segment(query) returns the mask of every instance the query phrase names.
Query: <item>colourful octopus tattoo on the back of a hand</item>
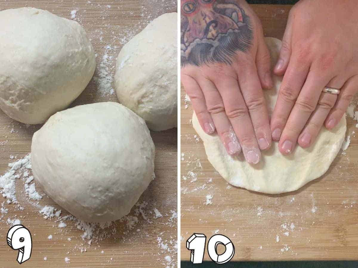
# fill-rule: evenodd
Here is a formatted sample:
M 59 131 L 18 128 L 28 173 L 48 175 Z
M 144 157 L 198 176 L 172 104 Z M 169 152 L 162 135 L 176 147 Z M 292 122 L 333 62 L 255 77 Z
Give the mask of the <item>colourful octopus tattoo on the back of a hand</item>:
M 252 45 L 250 18 L 233 0 L 181 0 L 181 64 L 231 64 Z

